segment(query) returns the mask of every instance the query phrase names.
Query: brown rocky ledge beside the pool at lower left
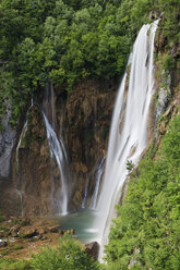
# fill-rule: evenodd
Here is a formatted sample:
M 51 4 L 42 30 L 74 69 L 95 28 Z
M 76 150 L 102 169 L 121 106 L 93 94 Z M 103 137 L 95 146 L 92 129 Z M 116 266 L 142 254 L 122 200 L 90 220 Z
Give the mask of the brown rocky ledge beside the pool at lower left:
M 47 244 L 58 245 L 60 236 L 74 230 L 60 230 L 56 220 L 45 217 L 9 217 L 0 222 L 0 257 L 28 259 Z

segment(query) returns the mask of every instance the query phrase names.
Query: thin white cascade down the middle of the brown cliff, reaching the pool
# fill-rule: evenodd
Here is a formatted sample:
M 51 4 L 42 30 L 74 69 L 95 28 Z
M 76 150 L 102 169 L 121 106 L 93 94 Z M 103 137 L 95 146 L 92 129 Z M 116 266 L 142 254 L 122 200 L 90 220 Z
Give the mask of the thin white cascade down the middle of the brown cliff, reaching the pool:
M 60 186 L 60 194 L 59 194 L 59 213 L 67 214 L 68 212 L 68 175 L 65 173 L 68 168 L 68 157 L 64 144 L 62 139 L 58 139 L 56 132 L 53 131 L 52 126 L 50 125 L 46 114 L 43 112 L 46 131 L 47 131 L 47 138 L 50 148 L 50 156 L 51 158 L 55 157 L 59 172 L 61 177 L 61 186 Z

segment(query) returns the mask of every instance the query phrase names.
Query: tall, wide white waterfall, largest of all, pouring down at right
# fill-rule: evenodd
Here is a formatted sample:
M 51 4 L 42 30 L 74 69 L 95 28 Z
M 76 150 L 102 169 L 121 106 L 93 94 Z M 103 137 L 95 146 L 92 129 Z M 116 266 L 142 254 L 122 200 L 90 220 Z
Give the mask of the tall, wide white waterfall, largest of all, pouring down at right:
M 147 119 L 154 88 L 154 39 L 158 21 L 144 25 L 131 56 L 130 76 L 125 73 L 119 88 L 110 128 L 104 184 L 95 222 L 99 243 L 107 244 L 109 226 L 115 216 L 121 188 L 127 177 L 127 161 L 137 164 L 146 147 Z

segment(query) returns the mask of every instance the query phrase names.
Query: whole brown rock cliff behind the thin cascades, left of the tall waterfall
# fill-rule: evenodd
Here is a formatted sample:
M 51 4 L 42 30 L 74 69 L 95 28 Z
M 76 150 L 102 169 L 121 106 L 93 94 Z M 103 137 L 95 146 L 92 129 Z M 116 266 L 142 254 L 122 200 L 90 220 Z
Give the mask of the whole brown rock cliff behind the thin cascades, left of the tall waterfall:
M 11 173 L 5 179 L 8 185 L 1 187 L 1 208 L 5 207 L 11 214 L 58 212 L 60 173 L 50 155 L 41 110 L 67 149 L 71 175 L 67 183 L 69 209 L 81 207 L 91 177 L 89 202 L 95 188 L 91 175 L 106 152 L 117 88 L 115 81 L 84 81 L 72 93 L 63 87 L 55 88 L 53 95 L 51 88 L 41 90 L 16 136 Z

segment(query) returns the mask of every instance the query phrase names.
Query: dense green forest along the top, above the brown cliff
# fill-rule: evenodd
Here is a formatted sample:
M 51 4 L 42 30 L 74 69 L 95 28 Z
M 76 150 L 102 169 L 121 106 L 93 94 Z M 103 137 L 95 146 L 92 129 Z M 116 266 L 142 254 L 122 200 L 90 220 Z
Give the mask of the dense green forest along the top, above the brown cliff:
M 151 10 L 166 12 L 165 32 L 177 35 L 179 0 L 0 0 L 0 116 L 7 99 L 13 120 L 47 82 L 123 73 Z

